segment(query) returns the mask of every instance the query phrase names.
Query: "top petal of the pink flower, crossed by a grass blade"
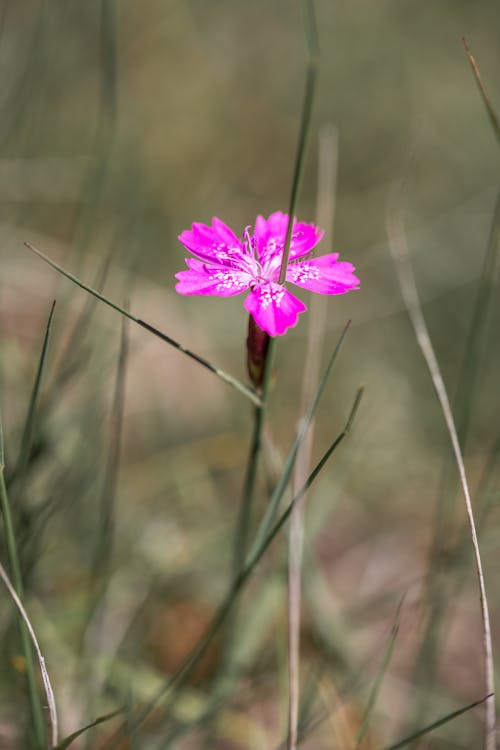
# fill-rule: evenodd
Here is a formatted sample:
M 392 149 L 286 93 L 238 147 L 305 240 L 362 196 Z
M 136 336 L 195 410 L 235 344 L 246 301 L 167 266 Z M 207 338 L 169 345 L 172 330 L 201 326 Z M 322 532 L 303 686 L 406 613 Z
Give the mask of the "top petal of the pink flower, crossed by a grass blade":
M 281 261 L 287 229 L 288 214 L 276 211 L 268 219 L 257 216 L 253 236 L 259 260 L 263 266 L 269 264 L 276 256 L 279 256 Z M 290 260 L 301 258 L 310 252 L 318 244 L 323 234 L 323 231 L 315 227 L 314 224 L 306 224 L 294 219 L 290 242 Z M 273 268 L 275 265 L 273 264 Z

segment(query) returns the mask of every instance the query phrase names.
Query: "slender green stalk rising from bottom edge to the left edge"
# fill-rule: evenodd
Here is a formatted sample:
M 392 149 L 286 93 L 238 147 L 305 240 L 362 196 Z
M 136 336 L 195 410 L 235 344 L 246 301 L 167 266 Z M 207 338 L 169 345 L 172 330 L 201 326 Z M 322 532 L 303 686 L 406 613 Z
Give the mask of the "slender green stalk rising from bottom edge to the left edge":
M 0 420 L 0 509 L 5 529 L 5 542 L 7 546 L 7 557 L 9 560 L 12 582 L 14 584 L 15 592 L 22 602 L 24 599 L 24 589 L 21 576 L 21 566 L 19 564 L 19 556 L 17 553 L 16 537 L 12 524 L 12 515 L 10 512 L 9 498 L 7 494 L 7 487 L 5 484 L 4 455 L 3 432 Z M 35 733 L 35 741 L 37 748 L 39 750 L 42 750 L 42 748 L 47 747 L 47 727 L 44 720 L 40 693 L 38 692 L 38 687 L 36 684 L 33 649 L 31 646 L 31 641 L 28 630 L 26 628 L 26 624 L 21 615 L 19 615 L 19 628 L 21 632 L 21 644 L 26 663 L 26 676 L 28 680 L 28 692 L 31 706 L 31 717 L 33 721 L 33 730 Z

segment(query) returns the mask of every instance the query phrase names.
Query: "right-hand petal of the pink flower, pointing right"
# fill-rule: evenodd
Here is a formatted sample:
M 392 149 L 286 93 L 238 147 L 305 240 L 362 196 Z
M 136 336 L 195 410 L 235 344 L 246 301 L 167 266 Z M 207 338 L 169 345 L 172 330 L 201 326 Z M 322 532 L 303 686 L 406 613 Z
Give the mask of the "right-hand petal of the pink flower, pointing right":
M 338 253 L 321 255 L 288 266 L 286 280 L 311 292 L 320 294 L 345 294 L 359 289 L 359 279 L 354 275 L 352 263 L 338 262 Z

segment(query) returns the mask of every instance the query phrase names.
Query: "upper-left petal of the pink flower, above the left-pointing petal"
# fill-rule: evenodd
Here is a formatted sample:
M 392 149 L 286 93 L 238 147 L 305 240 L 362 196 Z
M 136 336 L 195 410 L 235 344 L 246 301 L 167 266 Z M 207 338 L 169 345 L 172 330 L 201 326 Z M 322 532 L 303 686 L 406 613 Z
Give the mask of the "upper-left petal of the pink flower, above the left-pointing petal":
M 190 253 L 201 260 L 237 268 L 248 257 L 245 246 L 232 229 L 214 216 L 212 226 L 194 223 L 179 235 L 179 240 Z

